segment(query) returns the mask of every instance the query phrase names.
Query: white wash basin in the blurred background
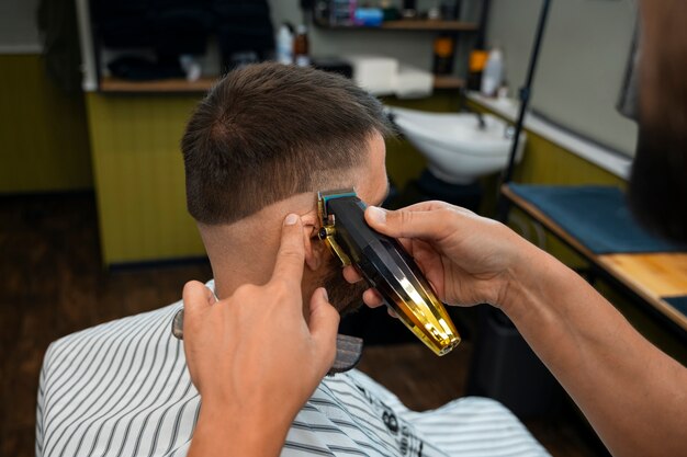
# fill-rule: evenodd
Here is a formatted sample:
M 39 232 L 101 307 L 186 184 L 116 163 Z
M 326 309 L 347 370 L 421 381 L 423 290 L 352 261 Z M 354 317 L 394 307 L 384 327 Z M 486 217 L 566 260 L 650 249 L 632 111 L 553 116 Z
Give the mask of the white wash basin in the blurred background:
M 471 184 L 508 165 L 513 138 L 508 124 L 484 114 L 484 128 L 473 113 L 427 113 L 387 106 L 401 133 L 423 152 L 429 171 L 450 184 Z M 516 161 L 522 157 L 526 134 L 520 134 Z

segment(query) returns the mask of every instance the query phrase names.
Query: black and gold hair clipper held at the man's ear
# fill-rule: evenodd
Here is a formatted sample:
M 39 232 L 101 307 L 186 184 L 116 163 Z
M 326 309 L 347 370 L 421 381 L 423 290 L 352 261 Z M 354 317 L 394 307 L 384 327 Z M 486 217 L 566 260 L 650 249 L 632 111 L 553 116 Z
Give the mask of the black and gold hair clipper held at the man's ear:
M 448 354 L 460 336 L 443 304 L 401 243 L 368 226 L 365 207 L 354 190 L 319 192 L 319 239 L 345 266 L 354 265 L 429 349 L 437 355 Z

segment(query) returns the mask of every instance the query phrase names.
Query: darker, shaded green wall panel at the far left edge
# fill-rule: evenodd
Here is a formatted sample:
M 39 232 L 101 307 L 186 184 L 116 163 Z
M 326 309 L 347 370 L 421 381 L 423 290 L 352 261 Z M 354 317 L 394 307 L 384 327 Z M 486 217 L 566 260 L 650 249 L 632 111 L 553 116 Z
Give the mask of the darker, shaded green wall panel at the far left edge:
M 83 95 L 67 95 L 38 55 L 0 55 L 0 193 L 92 187 Z

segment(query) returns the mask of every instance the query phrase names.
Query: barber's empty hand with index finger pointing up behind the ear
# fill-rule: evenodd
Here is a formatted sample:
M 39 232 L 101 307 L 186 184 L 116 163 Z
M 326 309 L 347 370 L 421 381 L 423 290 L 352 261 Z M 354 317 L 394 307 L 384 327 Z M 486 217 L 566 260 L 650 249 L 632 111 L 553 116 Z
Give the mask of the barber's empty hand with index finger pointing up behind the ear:
M 235 445 L 270 446 L 277 441 L 271 449 L 279 452 L 293 418 L 334 362 L 339 313 L 319 288 L 306 322 L 301 290 L 304 252 L 302 221 L 290 215 L 269 283 L 240 286 L 219 301 L 199 282 L 183 289 L 184 351 L 203 401 L 199 427 L 203 413 L 224 422 L 224 436 L 240 426 L 244 434 Z M 251 441 L 252 434 L 263 436 Z M 281 442 L 274 439 L 279 435 Z M 232 448 L 230 454 L 236 453 L 273 454 Z

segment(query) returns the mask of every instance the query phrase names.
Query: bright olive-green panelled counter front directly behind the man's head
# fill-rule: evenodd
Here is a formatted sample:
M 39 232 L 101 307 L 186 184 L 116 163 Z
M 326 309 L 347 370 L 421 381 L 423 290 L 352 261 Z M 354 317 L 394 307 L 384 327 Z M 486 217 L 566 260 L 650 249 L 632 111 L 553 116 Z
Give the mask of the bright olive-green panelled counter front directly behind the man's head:
M 198 96 L 87 96 L 106 264 L 202 256 L 179 141 Z

